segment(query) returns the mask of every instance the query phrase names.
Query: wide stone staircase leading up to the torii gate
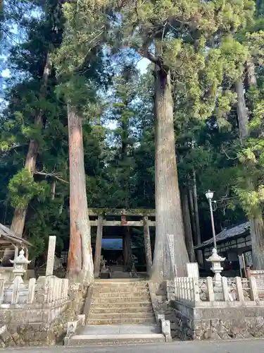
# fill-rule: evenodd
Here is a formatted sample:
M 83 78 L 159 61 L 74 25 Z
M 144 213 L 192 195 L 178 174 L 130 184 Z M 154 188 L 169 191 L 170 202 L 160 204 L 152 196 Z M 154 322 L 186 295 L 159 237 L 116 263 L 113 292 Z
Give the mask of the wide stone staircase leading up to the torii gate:
M 132 345 L 165 342 L 156 325 L 148 282 L 98 280 L 84 307 L 86 325 L 77 329 L 68 345 Z

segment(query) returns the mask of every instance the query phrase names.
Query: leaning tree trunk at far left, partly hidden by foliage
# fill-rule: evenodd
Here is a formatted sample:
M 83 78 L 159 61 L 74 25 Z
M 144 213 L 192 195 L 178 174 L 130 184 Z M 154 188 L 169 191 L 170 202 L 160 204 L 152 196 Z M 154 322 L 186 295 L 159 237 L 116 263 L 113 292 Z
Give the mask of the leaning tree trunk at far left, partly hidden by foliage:
M 46 55 L 46 64 L 44 66 L 43 76 L 42 76 L 42 88 L 39 95 L 40 99 L 43 99 L 46 95 L 46 88 L 48 85 L 49 75 L 51 73 L 51 60 L 49 57 L 49 53 Z M 35 126 L 42 126 L 42 111 L 39 111 L 35 120 Z M 37 140 L 30 140 L 30 145 L 28 146 L 27 156 L 25 158 L 25 169 L 27 169 L 30 174 L 34 174 L 34 169 L 36 167 L 37 155 L 39 153 L 39 143 Z M 24 208 L 15 208 L 15 212 L 13 215 L 13 220 L 11 224 L 11 230 L 22 237 L 23 230 L 25 227 L 25 217 L 27 215 L 27 206 Z

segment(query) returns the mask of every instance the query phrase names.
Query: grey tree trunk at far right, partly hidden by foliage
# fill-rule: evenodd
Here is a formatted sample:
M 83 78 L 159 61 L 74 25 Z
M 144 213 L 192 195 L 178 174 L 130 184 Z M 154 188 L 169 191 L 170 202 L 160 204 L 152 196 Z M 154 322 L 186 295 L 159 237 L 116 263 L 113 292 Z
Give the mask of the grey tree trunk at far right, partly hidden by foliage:
M 256 78 L 252 76 L 248 78 L 249 84 L 256 83 Z M 249 116 L 246 110 L 246 100 L 244 96 L 244 85 L 242 80 L 239 80 L 234 85 L 237 92 L 237 117 L 239 121 L 239 137 L 241 143 L 249 137 Z M 251 179 L 248 179 L 249 189 L 254 189 Z M 251 244 L 253 268 L 262 270 L 264 268 L 264 224 L 262 210 L 259 208 L 258 215 L 254 215 L 250 219 L 251 223 Z

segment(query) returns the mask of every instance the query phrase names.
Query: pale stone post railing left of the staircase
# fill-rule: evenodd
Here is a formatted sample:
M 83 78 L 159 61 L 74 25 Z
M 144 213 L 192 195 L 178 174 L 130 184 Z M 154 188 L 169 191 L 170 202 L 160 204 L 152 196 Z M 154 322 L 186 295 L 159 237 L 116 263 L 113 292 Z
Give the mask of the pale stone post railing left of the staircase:
M 68 300 L 68 280 L 55 276 L 39 277 L 21 282 L 0 280 L 0 307 L 2 304 L 51 304 Z

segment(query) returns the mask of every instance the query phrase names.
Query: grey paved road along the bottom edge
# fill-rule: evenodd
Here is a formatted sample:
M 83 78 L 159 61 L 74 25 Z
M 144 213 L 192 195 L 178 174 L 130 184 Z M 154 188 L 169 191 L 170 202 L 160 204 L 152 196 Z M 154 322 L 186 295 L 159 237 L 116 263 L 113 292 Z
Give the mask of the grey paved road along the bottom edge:
M 166 345 L 0 349 L 4 353 L 264 353 L 264 340 L 173 342 Z

